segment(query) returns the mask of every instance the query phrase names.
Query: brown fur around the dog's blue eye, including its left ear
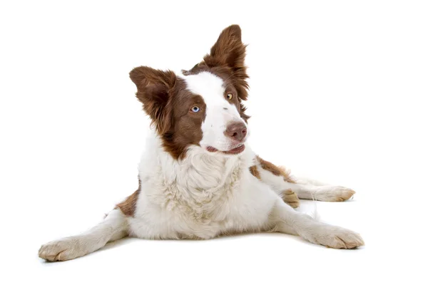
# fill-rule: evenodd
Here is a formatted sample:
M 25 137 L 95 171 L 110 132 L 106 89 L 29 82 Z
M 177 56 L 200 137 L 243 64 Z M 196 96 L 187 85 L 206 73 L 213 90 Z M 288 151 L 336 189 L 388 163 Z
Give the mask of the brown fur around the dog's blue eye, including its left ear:
M 185 157 L 188 145 L 199 145 L 205 120 L 205 102 L 186 89 L 182 78 L 172 71 L 146 66 L 134 68 L 131 79 L 138 88 L 136 96 L 151 117 L 163 142 L 163 148 L 176 160 Z M 192 112 L 198 106 L 198 113 Z

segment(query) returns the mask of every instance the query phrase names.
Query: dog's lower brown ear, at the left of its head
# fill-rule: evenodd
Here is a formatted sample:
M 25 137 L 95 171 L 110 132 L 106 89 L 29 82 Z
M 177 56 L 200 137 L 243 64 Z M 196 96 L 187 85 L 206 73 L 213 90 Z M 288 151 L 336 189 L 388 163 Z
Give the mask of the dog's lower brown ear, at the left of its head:
M 147 66 L 134 68 L 129 77 L 137 86 L 136 96 L 150 116 L 160 135 L 172 127 L 170 90 L 175 85 L 173 71 L 160 71 Z

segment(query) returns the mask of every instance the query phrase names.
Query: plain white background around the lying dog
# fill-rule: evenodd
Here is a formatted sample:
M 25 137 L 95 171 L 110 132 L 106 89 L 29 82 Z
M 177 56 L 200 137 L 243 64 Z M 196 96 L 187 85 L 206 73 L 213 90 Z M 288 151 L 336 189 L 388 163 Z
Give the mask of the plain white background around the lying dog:
M 427 2 L 254 2 L 1 1 L 1 284 L 427 281 Z M 136 190 L 148 119 L 128 72 L 191 68 L 230 24 L 249 43 L 253 149 L 355 189 L 317 210 L 366 246 L 252 234 L 39 259 Z

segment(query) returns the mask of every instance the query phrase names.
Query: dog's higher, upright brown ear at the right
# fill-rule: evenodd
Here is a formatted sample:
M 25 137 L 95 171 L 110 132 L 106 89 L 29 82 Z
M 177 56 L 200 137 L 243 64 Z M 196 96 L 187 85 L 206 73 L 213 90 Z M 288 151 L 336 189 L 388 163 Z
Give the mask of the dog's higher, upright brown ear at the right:
M 241 100 L 248 98 L 248 75 L 245 66 L 246 45 L 241 41 L 241 29 L 238 25 L 228 26 L 218 37 L 210 54 L 203 58 L 203 64 L 209 67 L 227 66 L 232 71 L 235 88 Z

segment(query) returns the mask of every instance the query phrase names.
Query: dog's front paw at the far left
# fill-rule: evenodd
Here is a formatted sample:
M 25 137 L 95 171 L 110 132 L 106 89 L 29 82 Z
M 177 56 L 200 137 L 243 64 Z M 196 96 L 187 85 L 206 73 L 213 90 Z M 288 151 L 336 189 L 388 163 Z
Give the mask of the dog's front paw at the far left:
M 66 261 L 86 254 L 78 237 L 66 237 L 44 244 L 39 249 L 39 257 L 47 261 Z

